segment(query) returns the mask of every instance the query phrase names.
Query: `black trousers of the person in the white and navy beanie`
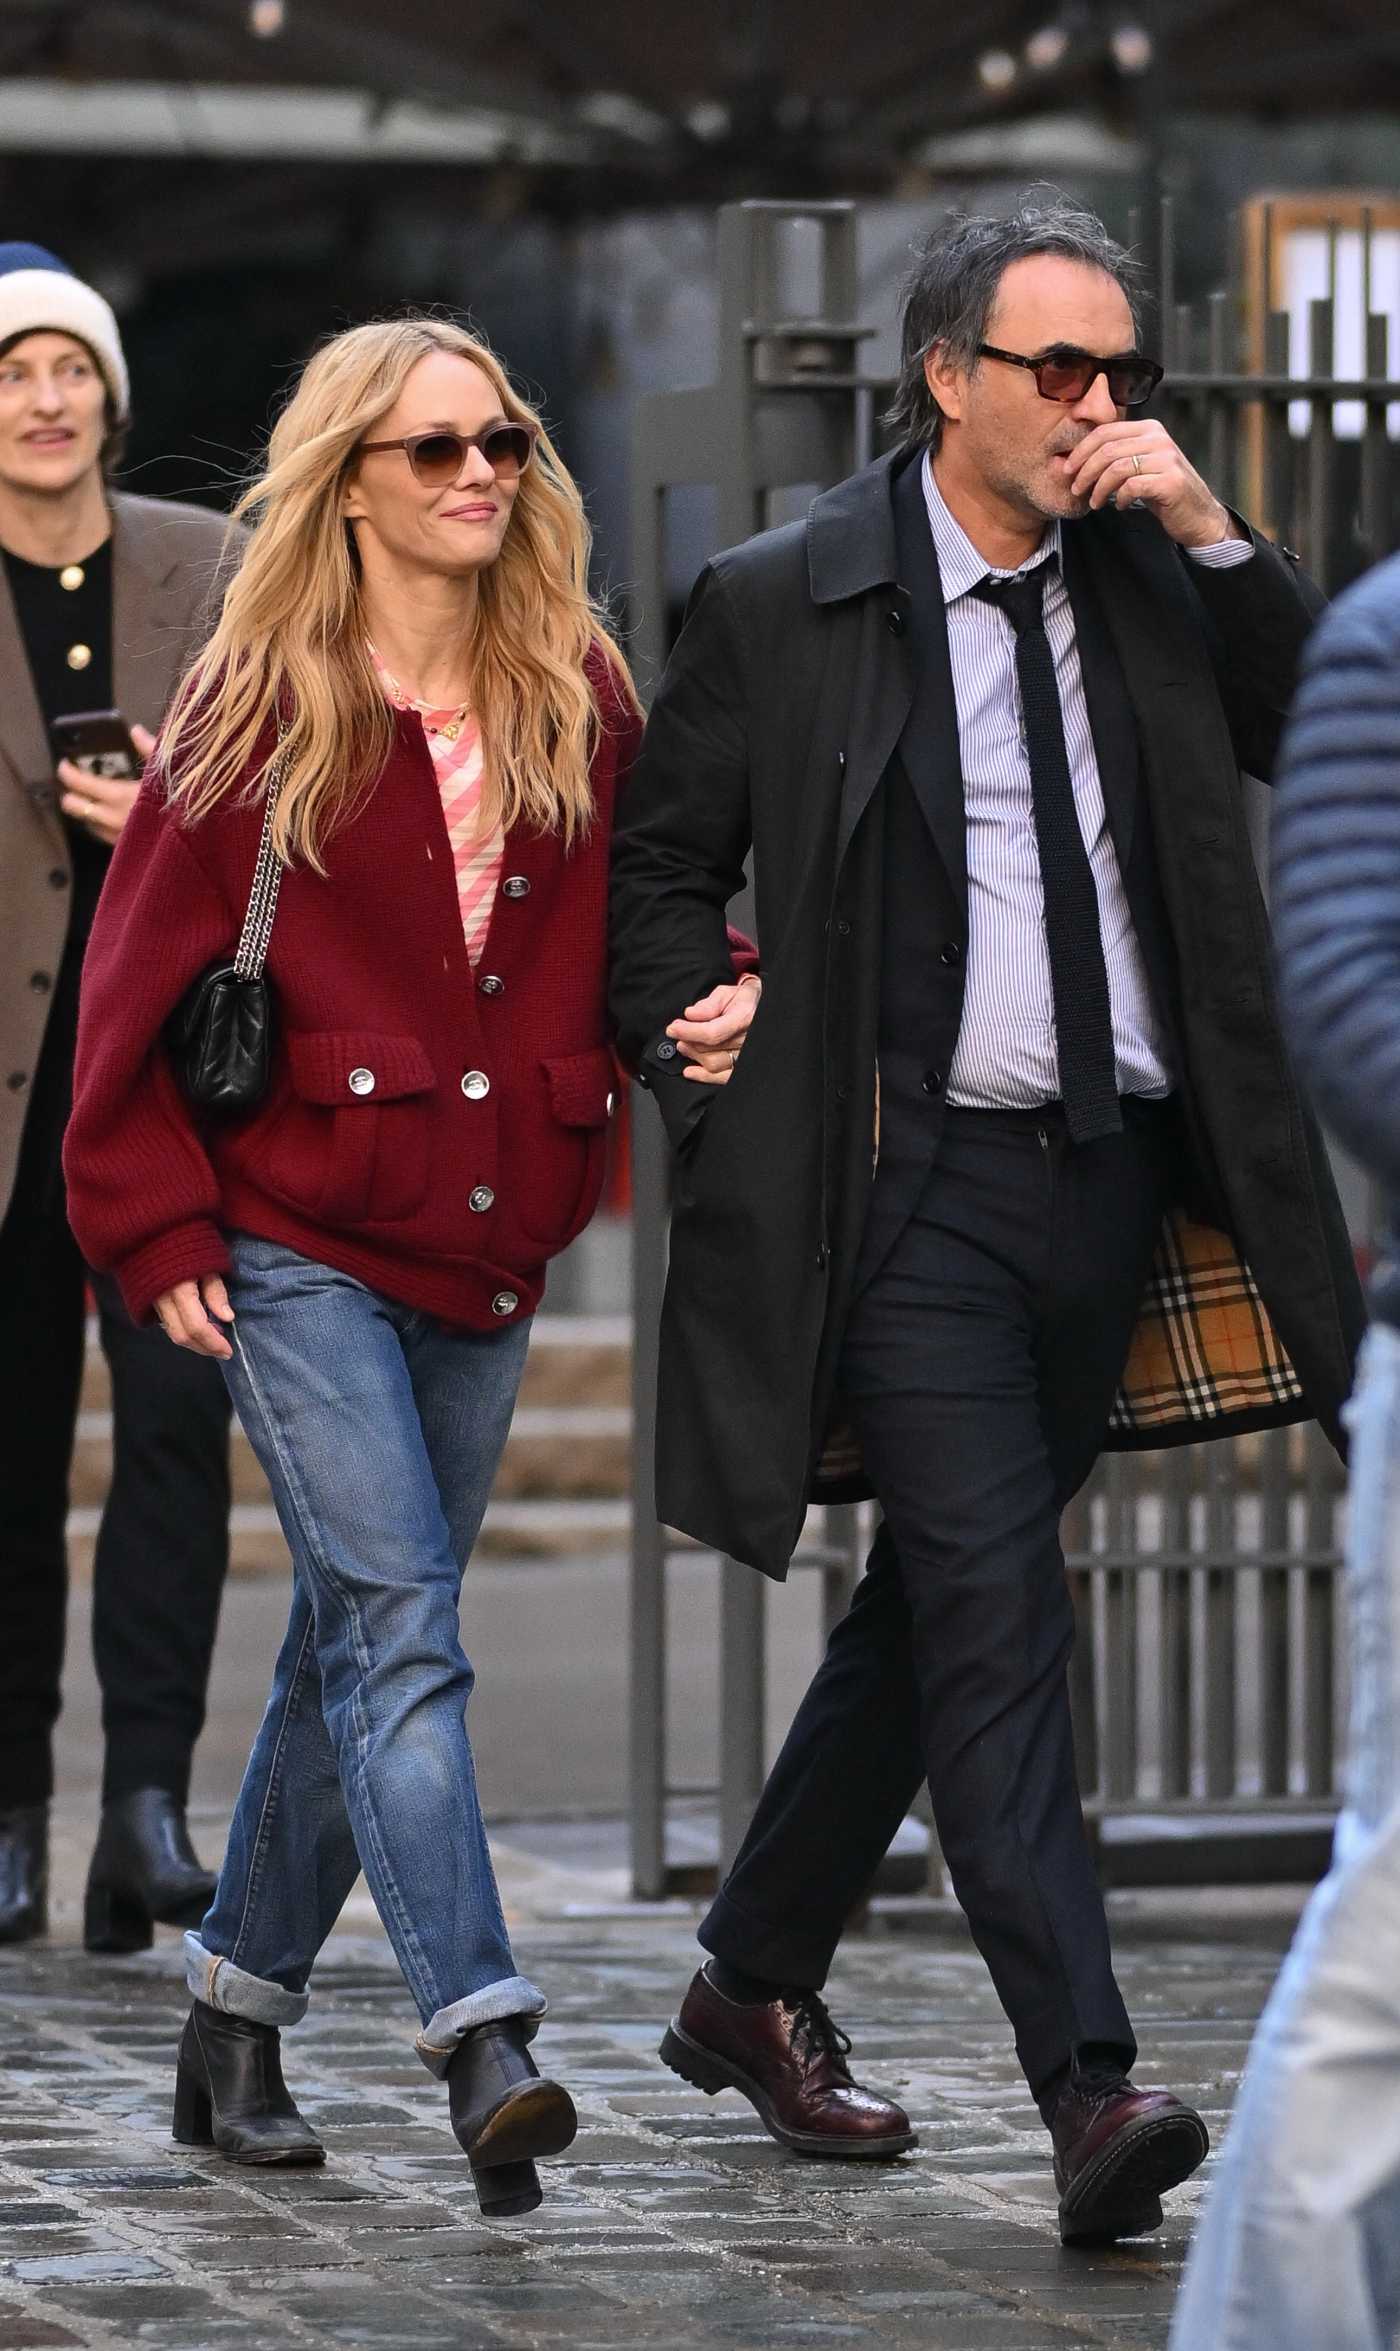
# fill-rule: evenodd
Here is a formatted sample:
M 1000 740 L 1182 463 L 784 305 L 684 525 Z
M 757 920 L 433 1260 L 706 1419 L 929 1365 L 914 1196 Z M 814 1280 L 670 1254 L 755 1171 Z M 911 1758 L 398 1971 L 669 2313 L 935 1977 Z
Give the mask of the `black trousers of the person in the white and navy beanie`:
M 113 1284 L 96 1300 L 113 1389 L 92 1592 L 104 1803 L 136 1787 L 184 1803 L 228 1568 L 228 1396 L 216 1364 L 136 1331 Z M 0 1225 L 0 1808 L 54 1787 L 82 1319 L 78 1244 L 52 1187 L 24 1183 Z

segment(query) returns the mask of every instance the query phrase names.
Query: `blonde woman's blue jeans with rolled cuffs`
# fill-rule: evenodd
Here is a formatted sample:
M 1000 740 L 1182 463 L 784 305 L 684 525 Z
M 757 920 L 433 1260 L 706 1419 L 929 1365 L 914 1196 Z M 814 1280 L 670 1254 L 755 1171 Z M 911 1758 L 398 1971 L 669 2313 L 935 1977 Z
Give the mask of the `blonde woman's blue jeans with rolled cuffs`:
M 492 2017 L 539 2017 L 515 1970 L 466 1737 L 461 1570 L 511 1429 L 529 1326 L 447 1331 L 275 1241 L 233 1234 L 238 1418 L 294 1587 L 191 1991 L 296 2024 L 360 1869 L 442 2074 Z

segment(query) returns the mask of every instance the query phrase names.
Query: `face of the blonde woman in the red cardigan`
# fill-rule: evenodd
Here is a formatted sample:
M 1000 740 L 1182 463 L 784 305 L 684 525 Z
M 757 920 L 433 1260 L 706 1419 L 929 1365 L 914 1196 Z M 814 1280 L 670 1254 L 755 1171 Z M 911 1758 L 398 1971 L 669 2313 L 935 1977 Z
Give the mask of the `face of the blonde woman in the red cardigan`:
M 431 350 L 409 369 L 400 397 L 365 433 L 367 442 L 407 433 L 485 433 L 506 423 L 489 376 L 454 350 Z M 360 552 L 376 543 L 393 562 L 459 578 L 494 564 L 515 505 L 520 473 L 496 473 L 480 449 L 464 449 L 456 480 L 424 489 L 405 449 L 360 456 L 346 484 L 346 515 Z

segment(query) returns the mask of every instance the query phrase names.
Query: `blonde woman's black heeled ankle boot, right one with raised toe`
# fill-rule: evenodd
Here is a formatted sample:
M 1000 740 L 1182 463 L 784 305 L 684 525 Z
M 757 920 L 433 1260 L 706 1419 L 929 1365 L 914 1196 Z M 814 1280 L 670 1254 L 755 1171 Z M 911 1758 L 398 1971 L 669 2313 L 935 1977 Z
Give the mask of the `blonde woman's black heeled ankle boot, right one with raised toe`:
M 534 2158 L 562 2156 L 579 2116 L 569 2092 L 541 2078 L 520 2017 L 478 2024 L 456 2043 L 447 2097 L 482 2212 L 494 2219 L 534 2212 L 544 2201 Z

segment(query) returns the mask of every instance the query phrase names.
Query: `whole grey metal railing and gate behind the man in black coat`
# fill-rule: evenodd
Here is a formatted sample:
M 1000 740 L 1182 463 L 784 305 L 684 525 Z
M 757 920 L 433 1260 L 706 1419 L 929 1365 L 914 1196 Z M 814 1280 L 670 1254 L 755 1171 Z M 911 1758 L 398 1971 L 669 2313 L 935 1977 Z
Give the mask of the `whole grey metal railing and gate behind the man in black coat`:
M 1202 306 L 1174 299 L 1169 205 L 1160 219 L 1160 308 L 1172 376 L 1160 414 L 1231 503 L 1252 510 L 1308 569 L 1339 585 L 1395 543 L 1398 447 L 1386 374 L 1388 322 L 1372 310 L 1365 247 L 1365 376 L 1334 371 L 1336 254 L 1329 296 L 1306 320 L 1308 371 L 1289 374 L 1287 310 L 1273 303 L 1275 221 L 1261 207 L 1247 261 L 1261 289 Z M 802 242 L 800 268 L 793 245 Z M 718 545 L 868 463 L 887 383 L 861 374 L 873 329 L 856 317 L 852 205 L 734 205 L 720 214 L 715 381 L 638 407 L 633 578 L 638 656 L 666 654 L 666 510 L 682 484 L 718 494 Z M 795 299 L 793 280 L 802 280 Z M 1400 339 L 1400 322 L 1395 327 Z M 1256 364 L 1259 362 L 1259 364 Z M 1339 435 L 1336 402 L 1360 402 Z M 1299 404 L 1304 414 L 1299 416 Z M 1355 411 L 1353 411 L 1355 421 Z M 741 915 L 736 917 L 741 919 Z M 631 1869 L 661 1895 L 694 1867 L 668 1853 L 668 1808 L 706 1794 L 722 1867 L 765 1770 L 765 1582 L 734 1561 L 718 1575 L 720 1777 L 678 1789 L 668 1768 L 668 1568 L 656 1526 L 656 1324 L 666 1272 L 668 1164 L 661 1124 L 633 1119 L 633 1559 L 631 1559 Z M 1108 1876 L 1294 1876 L 1325 1855 L 1336 1803 L 1341 1472 L 1315 1427 L 1160 1455 L 1113 1455 L 1066 1514 L 1080 1639 L 1071 1674 L 1085 1808 Z M 854 1509 L 814 1521 L 798 1568 L 824 1578 L 824 1625 L 861 1566 Z M 816 1662 L 816 1660 L 814 1660 Z M 1186 1831 L 1186 1834 L 1184 1834 Z

